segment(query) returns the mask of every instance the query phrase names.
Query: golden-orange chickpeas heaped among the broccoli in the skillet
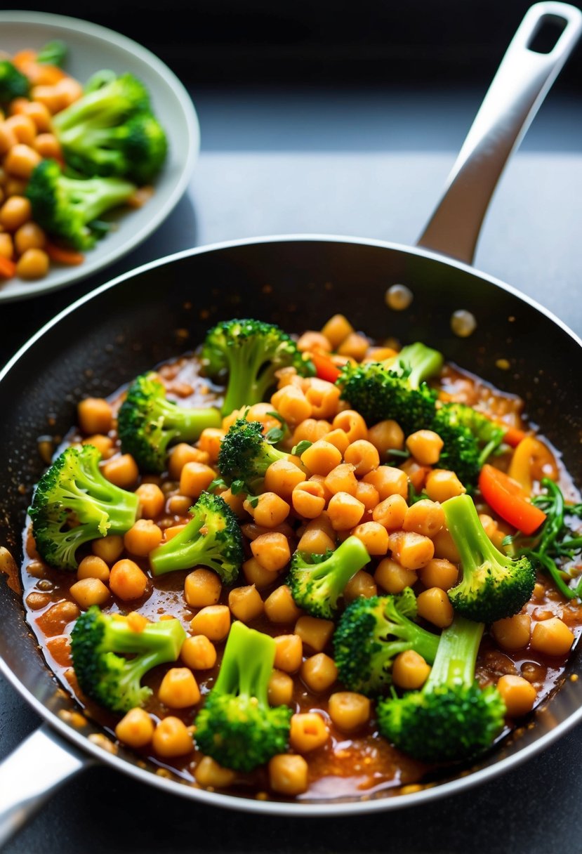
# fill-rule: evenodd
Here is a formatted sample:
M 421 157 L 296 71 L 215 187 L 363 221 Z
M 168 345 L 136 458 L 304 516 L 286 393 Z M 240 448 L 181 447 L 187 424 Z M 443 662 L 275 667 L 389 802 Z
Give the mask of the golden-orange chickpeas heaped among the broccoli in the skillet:
M 336 365 L 387 358 L 394 352 L 373 346 L 343 315 L 330 318 L 322 330 L 300 336 L 298 346 L 304 352 L 330 354 Z M 184 381 L 182 364 L 177 360 L 160 366 L 158 372 L 168 391 L 185 399 L 194 388 Z M 148 618 L 159 619 L 166 609 L 161 618 L 180 617 L 189 635 L 180 660 L 166 670 L 157 686 L 154 705 L 126 713 L 117 722 L 115 735 L 119 742 L 158 760 L 178 761 L 180 767 L 186 763 L 201 787 L 233 786 L 234 771 L 211 757 L 195 756 L 190 722 L 212 685 L 230 625 L 241 620 L 275 638 L 269 700 L 271 705 L 286 704 L 296 710 L 289 751 L 273 757 L 268 765 L 269 789 L 284 797 L 306 793 L 315 773 L 311 757 L 324 750 L 333 753 L 338 741 L 362 734 L 370 739 L 377 736 L 372 734 L 370 699 L 344 690 L 338 681 L 331 647 L 335 623 L 302 612 L 285 583 L 292 554 L 295 550 L 323 554 L 347 536 L 357 536 L 371 561 L 348 582 L 344 602 L 414 587 L 419 617 L 438 632 L 452 622 L 446 592 L 457 583 L 459 573 L 459 555 L 445 527 L 442 502 L 462 494 L 463 483 L 454 472 L 439 469 L 442 441 L 433 431 L 405 436 L 393 420 L 368 426 L 340 399 L 334 383 L 285 369 L 271 399 L 248 408 L 246 417 L 259 421 L 266 432 L 280 425 L 280 416 L 288 435 L 279 447 L 288 450 L 289 459 L 271 464 L 264 491 L 256 500 L 233 494 L 224 485 L 216 487 L 239 519 L 246 542 L 241 578 L 236 586 L 225 588 L 212 570 L 194 567 L 175 574 L 181 586 L 174 599 L 156 599 L 157 582 L 148 574 L 148 553 L 183 529 L 189 507 L 217 478 L 220 442 L 241 412 L 224 418 L 220 428 L 204 430 L 197 442 L 173 447 L 167 474 L 140 477 L 135 460 L 119 451 L 116 412 L 122 396 L 81 401 L 75 441 L 98 447 L 104 475 L 120 487 L 137 491 L 140 518 L 123 537 L 92 542 L 91 553 L 81 560 L 68 588 L 67 605 L 76 614 L 69 608 L 66 620 L 90 605 L 107 608 L 113 600 L 122 611 L 130 611 L 137 629 Z M 301 442 L 306 442 L 302 452 L 297 447 Z M 409 452 L 404 462 L 391 456 L 404 450 Z M 410 484 L 428 497 L 409 503 Z M 486 508 L 481 509 L 486 533 L 500 547 L 506 529 Z M 33 548 L 29 551 L 28 572 L 34 575 L 36 570 L 42 576 Z M 34 595 L 38 594 L 30 594 Z M 38 607 L 28 600 L 27 605 L 33 610 Z M 495 664 L 490 665 L 486 679 L 496 681 L 509 717 L 531 711 L 544 690 L 542 670 L 520 673 L 512 654 L 515 661 L 526 649 L 529 656 L 538 654 L 542 660 L 566 658 L 573 630 L 580 623 L 579 610 L 568 608 L 547 580 L 540 580 L 520 613 L 493 624 L 490 655 Z M 65 655 L 63 667 L 67 664 L 70 660 Z M 393 664 L 393 681 L 397 687 L 416 689 L 429 672 L 429 664 L 416 652 L 402 652 Z M 297 702 L 301 692 L 307 697 L 302 705 Z

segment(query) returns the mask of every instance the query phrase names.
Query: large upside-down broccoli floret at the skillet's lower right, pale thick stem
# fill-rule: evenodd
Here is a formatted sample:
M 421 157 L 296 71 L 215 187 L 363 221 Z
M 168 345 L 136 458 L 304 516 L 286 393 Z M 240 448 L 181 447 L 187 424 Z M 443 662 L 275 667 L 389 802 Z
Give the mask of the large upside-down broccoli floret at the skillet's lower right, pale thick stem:
M 434 664 L 420 691 L 376 705 L 380 732 L 423 762 L 461 762 L 492 746 L 503 729 L 505 704 L 497 687 L 481 688 L 475 662 L 483 623 L 459 614 L 439 639 Z

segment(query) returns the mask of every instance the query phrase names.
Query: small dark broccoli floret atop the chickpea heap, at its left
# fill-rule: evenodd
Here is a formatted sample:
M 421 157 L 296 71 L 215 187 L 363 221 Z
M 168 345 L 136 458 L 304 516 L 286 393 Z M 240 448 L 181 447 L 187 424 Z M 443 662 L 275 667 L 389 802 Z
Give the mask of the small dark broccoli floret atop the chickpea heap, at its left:
M 229 485 L 238 481 L 247 492 L 259 490 L 271 463 L 290 459 L 263 436 L 259 421 L 236 418 L 223 436 L 218 449 L 218 471 Z

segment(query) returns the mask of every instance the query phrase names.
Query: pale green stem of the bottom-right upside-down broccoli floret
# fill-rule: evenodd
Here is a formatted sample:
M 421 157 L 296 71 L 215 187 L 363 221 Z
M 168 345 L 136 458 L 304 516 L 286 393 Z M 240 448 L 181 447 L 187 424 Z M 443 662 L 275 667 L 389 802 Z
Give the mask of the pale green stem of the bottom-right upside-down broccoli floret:
M 422 690 L 429 692 L 439 685 L 472 685 L 484 629 L 485 623 L 456 614 L 440 635 L 434 664 Z

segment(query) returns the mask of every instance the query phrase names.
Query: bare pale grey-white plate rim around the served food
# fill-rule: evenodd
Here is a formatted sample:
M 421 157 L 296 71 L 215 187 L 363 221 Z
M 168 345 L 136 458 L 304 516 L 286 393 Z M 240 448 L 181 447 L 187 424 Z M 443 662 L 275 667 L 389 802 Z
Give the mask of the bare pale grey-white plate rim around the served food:
M 69 284 L 102 270 L 142 243 L 178 204 L 186 190 L 200 151 L 200 125 L 188 91 L 176 75 L 149 50 L 107 27 L 66 15 L 43 12 L 0 12 L 0 50 L 38 50 L 52 39 L 68 47 L 65 70 L 81 83 L 102 68 L 130 72 L 151 95 L 154 113 L 166 130 L 168 157 L 154 182 L 154 196 L 143 208 L 124 210 L 117 227 L 85 254 L 79 266 L 51 264 L 49 274 L 36 282 L 17 278 L 0 284 L 0 301 L 23 300 Z

